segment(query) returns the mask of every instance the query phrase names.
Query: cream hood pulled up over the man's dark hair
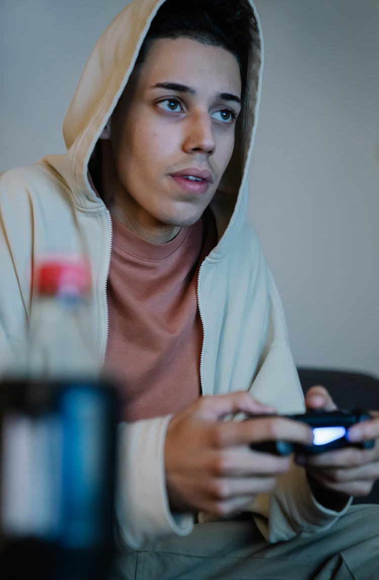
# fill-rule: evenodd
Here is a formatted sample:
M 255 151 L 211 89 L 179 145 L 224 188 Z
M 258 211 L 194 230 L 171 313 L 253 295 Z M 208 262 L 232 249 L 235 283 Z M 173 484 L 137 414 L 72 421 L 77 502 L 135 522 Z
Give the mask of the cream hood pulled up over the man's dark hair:
M 206 8 L 211 0 L 194 1 Z M 242 186 L 246 182 L 252 150 L 262 76 L 263 44 L 259 20 L 251 1 L 241 0 L 241 3 L 251 19 L 252 49 L 246 55 L 244 106 L 237 121 L 233 156 L 211 202 L 219 237 L 229 223 L 232 226 L 232 215 L 234 223 L 240 223 L 242 216 L 245 218 L 246 215 L 248 192 Z M 83 208 L 94 208 L 94 204 L 101 202 L 89 183 L 90 158 L 133 71 L 150 24 L 163 4 L 164 0 L 134 0 L 105 30 L 87 61 L 64 120 L 63 133 L 68 151 L 47 158 Z M 230 6 L 233 12 L 236 2 L 230 0 Z

